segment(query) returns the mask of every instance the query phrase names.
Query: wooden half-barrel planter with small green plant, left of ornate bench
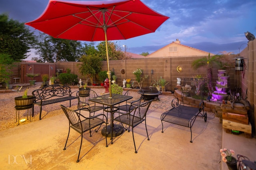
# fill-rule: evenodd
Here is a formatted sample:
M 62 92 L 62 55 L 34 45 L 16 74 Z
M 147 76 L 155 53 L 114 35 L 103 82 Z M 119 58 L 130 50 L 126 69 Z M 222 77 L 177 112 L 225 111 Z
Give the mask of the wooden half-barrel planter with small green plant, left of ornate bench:
M 33 106 L 35 96 L 28 96 L 28 88 L 24 91 L 23 96 L 15 97 L 15 105 L 16 107 L 28 107 L 31 108 Z

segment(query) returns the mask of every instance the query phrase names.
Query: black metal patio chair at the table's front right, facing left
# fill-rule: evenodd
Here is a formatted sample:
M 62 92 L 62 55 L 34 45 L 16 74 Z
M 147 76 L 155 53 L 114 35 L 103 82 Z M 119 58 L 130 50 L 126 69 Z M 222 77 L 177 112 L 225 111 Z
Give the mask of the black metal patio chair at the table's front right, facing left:
M 133 138 L 133 142 L 134 142 L 135 153 L 137 153 L 137 150 L 136 150 L 136 145 L 135 145 L 135 140 L 134 140 L 133 129 L 134 129 L 134 127 L 136 127 L 137 125 L 139 125 L 140 123 L 145 121 L 145 127 L 146 127 L 147 136 L 148 136 L 148 130 L 147 130 L 147 125 L 146 125 L 146 113 L 148 111 L 148 108 L 149 108 L 151 102 L 152 102 L 152 100 L 150 100 L 144 104 L 141 104 L 139 106 L 136 106 L 136 107 L 134 107 L 134 109 L 130 110 L 128 113 L 122 113 L 122 114 L 120 114 L 120 116 L 118 116 L 114 119 L 114 121 L 118 121 L 122 125 L 123 124 L 128 125 L 129 126 L 128 132 L 130 132 L 130 127 L 132 127 L 132 138 Z M 116 111 L 115 113 L 120 113 L 120 112 Z M 127 119 L 127 116 L 128 116 L 128 119 Z M 127 129 L 128 128 L 126 128 L 126 131 L 127 131 Z M 149 141 L 149 137 L 148 137 L 148 141 Z

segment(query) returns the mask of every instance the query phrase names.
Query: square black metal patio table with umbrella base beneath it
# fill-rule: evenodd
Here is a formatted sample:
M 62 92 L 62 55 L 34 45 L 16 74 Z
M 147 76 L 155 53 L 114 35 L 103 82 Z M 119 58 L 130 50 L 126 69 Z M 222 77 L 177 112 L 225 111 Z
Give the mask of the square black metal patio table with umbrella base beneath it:
M 104 111 L 111 113 L 111 122 L 110 125 L 106 127 L 107 134 L 105 134 L 106 130 L 103 128 L 102 135 L 108 135 L 108 137 L 111 137 L 111 144 L 113 144 L 113 137 L 119 136 L 124 132 L 124 128 L 122 127 L 122 125 L 114 125 L 114 108 L 116 108 L 114 106 L 122 102 L 125 102 L 126 100 L 129 100 L 131 98 L 132 96 L 125 96 L 121 94 L 112 94 L 112 98 L 110 98 L 110 94 L 105 94 L 102 96 L 89 99 L 89 101 L 91 102 L 108 106 L 106 109 L 104 109 Z

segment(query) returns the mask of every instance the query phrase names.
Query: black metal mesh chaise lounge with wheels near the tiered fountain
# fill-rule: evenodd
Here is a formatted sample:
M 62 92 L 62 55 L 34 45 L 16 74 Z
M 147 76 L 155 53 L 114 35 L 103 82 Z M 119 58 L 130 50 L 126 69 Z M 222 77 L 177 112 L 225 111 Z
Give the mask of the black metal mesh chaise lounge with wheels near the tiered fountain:
M 192 143 L 192 126 L 196 117 L 204 117 L 207 120 L 207 113 L 204 112 L 204 78 L 184 78 L 181 101 L 178 98 L 172 100 L 172 108 L 161 115 L 162 133 L 164 133 L 163 121 L 190 128 L 190 142 Z M 184 97 L 200 98 L 199 106 L 184 106 Z M 176 102 L 176 103 L 175 103 Z

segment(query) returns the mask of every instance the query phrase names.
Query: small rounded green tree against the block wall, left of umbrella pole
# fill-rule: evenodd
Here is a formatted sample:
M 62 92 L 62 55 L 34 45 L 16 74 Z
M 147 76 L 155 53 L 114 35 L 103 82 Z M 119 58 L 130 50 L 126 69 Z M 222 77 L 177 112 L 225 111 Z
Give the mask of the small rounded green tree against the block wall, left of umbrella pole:
M 91 83 L 93 83 L 93 77 L 101 71 L 101 58 L 96 55 L 83 55 L 80 61 L 82 62 L 79 68 L 80 73 L 89 76 Z

